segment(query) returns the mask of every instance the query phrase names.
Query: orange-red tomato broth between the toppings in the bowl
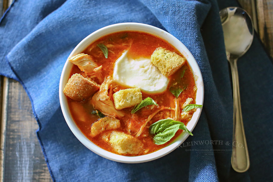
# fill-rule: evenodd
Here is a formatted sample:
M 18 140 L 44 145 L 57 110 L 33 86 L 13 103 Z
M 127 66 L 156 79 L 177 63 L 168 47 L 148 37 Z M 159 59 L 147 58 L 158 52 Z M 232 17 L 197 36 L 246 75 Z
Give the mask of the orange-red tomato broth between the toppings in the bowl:
M 108 48 L 108 58 L 105 58 L 102 50 L 97 46 L 97 44 L 104 44 Z M 143 32 L 134 32 L 134 31 L 126 31 L 126 32 L 118 32 L 112 33 L 107 36 L 103 36 L 102 38 L 96 40 L 92 44 L 90 44 L 83 53 L 91 56 L 96 64 L 99 66 L 102 65 L 101 76 L 103 78 L 107 76 L 113 75 L 113 69 L 115 66 L 116 60 L 123 54 L 124 50 L 128 50 L 128 57 L 139 58 L 139 57 L 147 57 L 150 58 L 153 52 L 157 47 L 163 47 L 167 50 L 177 53 L 178 55 L 183 55 L 174 48 L 174 46 L 170 45 L 163 39 L 159 37 L 153 36 L 151 34 L 143 33 Z M 83 77 L 87 77 L 83 71 L 81 71 L 76 65 L 73 65 L 70 77 L 73 74 L 81 74 Z M 181 75 L 183 74 L 182 78 Z M 135 136 L 146 123 L 147 118 L 154 114 L 153 118 L 145 125 L 143 132 L 137 137 L 142 141 L 144 145 L 143 154 L 152 153 L 157 151 L 167 145 L 169 145 L 177 136 L 180 135 L 183 130 L 178 130 L 175 136 L 170 139 L 167 143 L 163 145 L 157 145 L 153 142 L 153 136 L 149 133 L 149 127 L 154 122 L 157 122 L 160 119 L 166 119 L 171 115 L 171 112 L 174 112 L 176 98 L 174 94 L 170 92 L 170 87 L 173 85 L 180 85 L 184 87 L 184 90 L 178 96 L 177 100 L 179 103 L 184 103 L 187 98 L 192 98 L 192 103 L 195 103 L 196 97 L 196 86 L 194 81 L 194 76 L 192 71 L 190 70 L 190 66 L 186 62 L 179 70 L 177 70 L 173 75 L 168 77 L 169 84 L 167 89 L 161 93 L 150 94 L 142 92 L 142 99 L 144 100 L 147 97 L 152 98 L 157 104 L 156 105 L 148 105 L 146 107 L 141 108 L 135 113 L 131 113 L 133 107 L 124 108 L 122 111 L 125 113 L 123 117 L 116 117 L 120 120 L 121 127 L 116 129 L 116 131 L 121 131 L 126 134 L 130 134 Z M 102 81 L 94 78 L 98 84 L 101 84 Z M 110 85 L 109 89 L 109 97 L 110 100 L 113 101 L 113 93 L 122 89 L 127 89 L 129 87 L 125 87 L 119 84 Z M 109 143 L 106 143 L 102 140 L 101 136 L 98 135 L 96 137 L 90 136 L 90 127 L 91 125 L 99 119 L 99 116 L 92 114 L 94 108 L 92 103 L 90 102 L 91 98 L 85 101 L 74 101 L 71 98 L 67 97 L 68 105 L 72 117 L 79 127 L 81 132 L 93 143 L 97 146 L 110 151 L 112 153 L 116 153 L 115 150 L 110 146 Z M 169 109 L 161 109 L 162 107 Z M 180 112 L 182 112 L 182 108 L 180 108 Z M 183 122 L 187 125 L 189 122 L 189 118 L 181 118 L 180 122 Z M 142 154 L 142 155 L 143 155 Z M 127 156 L 131 156 L 128 154 Z

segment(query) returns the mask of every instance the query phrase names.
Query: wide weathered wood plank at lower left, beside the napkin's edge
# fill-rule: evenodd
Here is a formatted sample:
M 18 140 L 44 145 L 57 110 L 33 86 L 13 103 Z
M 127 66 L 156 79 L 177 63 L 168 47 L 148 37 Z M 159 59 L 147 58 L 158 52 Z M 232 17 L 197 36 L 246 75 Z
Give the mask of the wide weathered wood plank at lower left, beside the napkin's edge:
M 35 131 L 38 124 L 22 85 L 8 79 L 5 182 L 52 181 Z

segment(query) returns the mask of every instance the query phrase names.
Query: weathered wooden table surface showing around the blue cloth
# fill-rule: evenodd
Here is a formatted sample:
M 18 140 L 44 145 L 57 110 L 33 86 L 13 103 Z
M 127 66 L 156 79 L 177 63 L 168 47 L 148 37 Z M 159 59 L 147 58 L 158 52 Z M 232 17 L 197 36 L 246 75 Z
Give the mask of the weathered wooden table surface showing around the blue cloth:
M 239 0 L 251 15 L 266 50 L 273 57 L 273 1 Z M 2 15 L 11 0 L 0 0 Z M 22 85 L 1 76 L 0 181 L 52 181 L 35 131 L 38 124 Z

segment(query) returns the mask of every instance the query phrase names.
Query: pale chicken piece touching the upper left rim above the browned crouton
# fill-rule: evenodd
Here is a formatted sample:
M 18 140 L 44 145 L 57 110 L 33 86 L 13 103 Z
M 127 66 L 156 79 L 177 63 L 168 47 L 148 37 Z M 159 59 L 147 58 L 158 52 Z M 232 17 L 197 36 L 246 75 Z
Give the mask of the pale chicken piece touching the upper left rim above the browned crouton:
M 84 71 L 86 75 L 92 74 L 94 69 L 98 65 L 93 61 L 93 59 L 85 53 L 77 54 L 76 56 L 69 57 L 68 60 L 76 64 L 81 71 Z

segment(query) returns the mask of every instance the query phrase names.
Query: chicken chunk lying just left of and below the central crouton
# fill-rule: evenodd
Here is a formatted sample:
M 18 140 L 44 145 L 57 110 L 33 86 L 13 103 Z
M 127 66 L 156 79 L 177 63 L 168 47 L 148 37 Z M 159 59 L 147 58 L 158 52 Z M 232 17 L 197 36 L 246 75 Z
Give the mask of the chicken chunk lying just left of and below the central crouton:
M 124 113 L 122 111 L 118 111 L 115 109 L 113 101 L 111 101 L 110 99 L 105 101 L 97 100 L 96 99 L 97 95 L 98 95 L 98 92 L 94 94 L 92 99 L 90 100 L 95 109 L 100 110 L 100 112 L 102 112 L 104 115 L 110 116 L 110 117 L 124 116 Z

